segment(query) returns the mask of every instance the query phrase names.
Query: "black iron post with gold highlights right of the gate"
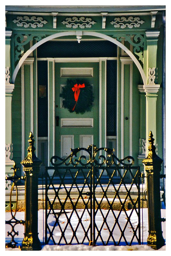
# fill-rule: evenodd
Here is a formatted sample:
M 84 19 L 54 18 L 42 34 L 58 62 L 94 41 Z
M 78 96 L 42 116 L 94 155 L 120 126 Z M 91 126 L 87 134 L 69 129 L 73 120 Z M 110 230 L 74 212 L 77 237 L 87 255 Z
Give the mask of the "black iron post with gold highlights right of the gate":
M 148 238 L 147 245 L 158 250 L 165 245 L 161 229 L 160 171 L 163 160 L 157 156 L 152 132 L 149 134 L 148 156 L 142 161 L 147 178 Z

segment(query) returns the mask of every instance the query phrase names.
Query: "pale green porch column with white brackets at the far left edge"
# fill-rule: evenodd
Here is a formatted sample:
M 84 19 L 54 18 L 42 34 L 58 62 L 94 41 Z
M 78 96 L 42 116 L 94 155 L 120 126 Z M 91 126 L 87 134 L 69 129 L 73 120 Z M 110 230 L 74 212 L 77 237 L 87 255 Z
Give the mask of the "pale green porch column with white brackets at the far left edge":
M 12 31 L 6 31 L 5 33 L 5 173 L 12 174 L 10 168 L 13 167 L 14 161 L 11 160 L 12 151 L 12 136 L 11 136 L 11 100 L 12 92 L 14 90 L 14 84 L 11 84 L 10 77 L 10 49 L 11 49 L 11 35 Z

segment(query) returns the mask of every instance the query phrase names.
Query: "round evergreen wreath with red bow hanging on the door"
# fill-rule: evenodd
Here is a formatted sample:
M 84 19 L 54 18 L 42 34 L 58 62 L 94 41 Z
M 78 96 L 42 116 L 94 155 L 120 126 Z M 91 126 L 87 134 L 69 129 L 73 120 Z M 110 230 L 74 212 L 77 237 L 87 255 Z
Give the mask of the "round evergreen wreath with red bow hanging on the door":
M 93 86 L 87 81 L 68 79 L 63 86 L 60 97 L 63 98 L 63 107 L 72 112 L 84 114 L 93 107 Z

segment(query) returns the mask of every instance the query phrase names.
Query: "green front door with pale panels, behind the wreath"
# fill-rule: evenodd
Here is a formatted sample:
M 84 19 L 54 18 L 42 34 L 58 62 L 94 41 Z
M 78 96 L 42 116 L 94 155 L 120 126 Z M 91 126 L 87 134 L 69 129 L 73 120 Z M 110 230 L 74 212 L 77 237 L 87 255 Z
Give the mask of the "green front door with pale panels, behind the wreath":
M 93 85 L 93 108 L 90 112 L 72 113 L 63 107 L 60 97 L 63 86 L 80 80 Z M 74 87 L 74 83 L 73 83 Z M 80 88 L 81 91 L 81 88 Z M 74 94 L 74 92 L 73 92 Z M 71 154 L 71 148 L 95 144 L 99 147 L 99 63 L 70 62 L 55 63 L 55 155 L 62 158 Z M 73 107 L 76 101 L 73 101 Z M 84 104 L 84 102 L 82 102 Z

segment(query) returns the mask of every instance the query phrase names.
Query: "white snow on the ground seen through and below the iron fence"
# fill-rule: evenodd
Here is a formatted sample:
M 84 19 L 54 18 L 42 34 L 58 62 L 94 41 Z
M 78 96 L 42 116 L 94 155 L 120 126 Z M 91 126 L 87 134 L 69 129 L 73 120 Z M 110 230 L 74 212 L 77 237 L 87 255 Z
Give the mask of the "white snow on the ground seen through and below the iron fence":
M 56 212 L 58 212 L 56 210 Z M 68 216 L 70 216 L 71 214 L 71 210 L 67 210 L 68 212 Z M 80 209 L 78 210 L 78 214 L 81 214 L 81 212 L 83 212 L 83 209 Z M 105 215 L 105 212 L 107 212 L 107 210 L 103 210 L 103 213 Z M 117 216 L 118 215 L 118 211 L 114 211 L 115 212 L 115 215 Z M 127 211 L 127 214 L 129 215 L 131 212 L 130 211 Z M 142 213 L 142 209 L 141 209 L 141 213 Z M 11 213 L 10 212 L 6 212 L 5 213 L 6 215 L 6 220 L 9 220 L 11 219 Z M 142 214 L 141 214 L 142 215 Z M 83 221 L 84 223 L 87 225 L 88 227 L 88 218 L 87 218 L 87 213 L 85 212 L 85 214 L 83 215 Z M 108 225 L 110 226 L 113 226 L 113 218 L 112 218 L 112 214 L 108 216 Z M 161 217 L 162 218 L 166 218 L 166 210 L 165 209 L 161 209 Z M 101 222 L 101 215 L 100 213 L 98 213 L 97 217 L 97 225 L 100 224 Z M 16 213 L 16 219 L 18 220 L 24 220 L 24 212 L 17 212 Z M 38 232 L 39 232 L 39 239 L 41 242 L 43 242 L 43 219 L 45 219 L 45 216 L 43 217 L 43 210 L 39 210 L 38 211 Z M 50 214 L 49 215 L 49 218 L 48 218 L 48 225 L 49 227 L 53 228 L 53 225 L 54 225 L 54 221 L 55 221 L 55 217 L 53 214 Z M 61 215 L 61 218 L 60 218 L 60 221 L 61 223 L 66 221 L 66 217 L 64 216 L 64 214 Z M 71 218 L 71 221 L 72 221 L 72 226 L 73 227 L 76 227 L 77 223 L 78 223 L 78 218 L 76 218 L 76 216 L 73 215 L 73 218 Z M 119 218 L 119 224 L 121 226 L 124 227 L 124 223 L 126 222 L 126 219 L 125 219 L 125 213 L 122 212 L 122 214 L 120 215 L 120 218 Z M 136 227 L 137 223 L 138 223 L 138 217 L 137 217 L 137 214 L 134 210 L 132 216 L 131 216 L 131 223 L 133 225 L 133 227 Z M 166 225 L 165 225 L 166 222 L 162 222 L 162 231 L 163 231 L 163 237 L 164 239 L 166 239 Z M 11 241 L 11 238 L 10 236 L 8 237 L 7 236 L 7 231 L 10 231 L 10 226 L 9 225 L 5 225 L 6 226 L 6 231 L 5 231 L 5 238 L 6 238 L 6 242 L 9 242 Z M 15 226 L 15 230 L 16 231 L 19 231 L 19 235 L 18 236 L 15 236 L 15 241 L 19 243 L 19 245 L 21 246 L 21 242 L 23 240 L 23 233 L 24 233 L 24 226 L 23 225 L 16 225 Z M 102 230 L 103 232 L 103 239 L 105 241 L 105 231 L 108 233 L 108 230 Z M 124 245 L 121 245 L 121 246 L 114 246 L 114 245 L 107 245 L 107 246 L 103 246 L 103 245 L 100 245 L 100 241 L 98 243 L 98 246 L 88 246 L 88 245 L 85 245 L 85 244 L 79 244 L 79 245 L 52 245 L 51 244 L 48 244 L 48 245 L 42 245 L 42 250 L 41 251 L 95 251 L 95 250 L 98 250 L 98 251 L 154 251 L 150 246 L 147 246 L 146 245 L 146 241 L 147 241 L 147 237 L 148 237 L 148 211 L 147 211 L 147 208 L 144 208 L 143 209 L 143 226 L 141 224 L 141 234 L 142 234 L 142 231 L 143 231 L 143 242 L 144 244 L 142 245 L 132 245 L 132 246 L 124 246 Z M 81 237 L 83 237 L 85 235 L 84 231 L 82 228 L 80 228 L 78 230 L 79 232 L 79 238 L 81 239 Z M 106 233 L 106 234 L 107 234 Z M 56 239 L 56 241 L 58 241 L 59 237 L 60 237 L 60 230 L 59 230 L 59 227 L 56 226 L 55 229 L 54 229 L 54 239 Z M 132 237 L 132 233 L 130 232 L 130 229 L 129 228 L 126 228 L 125 230 L 125 233 L 124 233 L 125 237 L 127 238 L 127 241 L 130 241 L 131 240 L 131 237 Z M 115 241 L 117 241 L 117 239 L 119 239 L 120 237 L 120 231 L 118 232 L 118 229 L 114 229 L 114 232 L 113 232 L 113 236 L 115 237 Z M 66 229 L 66 233 L 65 233 L 65 237 L 66 239 L 71 239 L 72 237 L 72 234 L 71 234 L 71 229 L 67 228 Z M 108 236 L 106 236 L 107 238 Z M 69 241 L 69 240 L 68 240 Z M 142 239 L 141 239 L 142 241 Z M 16 248 L 16 249 L 11 249 L 11 248 L 6 248 L 6 250 L 19 250 L 19 248 Z M 166 246 L 163 246 L 160 250 L 164 251 L 166 250 Z

